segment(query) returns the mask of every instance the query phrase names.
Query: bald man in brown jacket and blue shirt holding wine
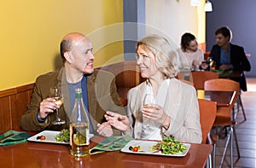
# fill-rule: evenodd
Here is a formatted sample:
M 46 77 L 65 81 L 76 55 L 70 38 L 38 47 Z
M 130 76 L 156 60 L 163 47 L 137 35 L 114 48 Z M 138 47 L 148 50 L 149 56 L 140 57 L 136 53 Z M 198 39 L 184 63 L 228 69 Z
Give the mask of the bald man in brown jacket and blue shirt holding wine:
M 90 40 L 83 34 L 73 32 L 61 41 L 63 66 L 55 71 L 40 75 L 32 93 L 26 113 L 20 119 L 20 129 L 29 131 L 62 130 L 69 128 L 69 120 L 75 100 L 75 89 L 82 88 L 83 101 L 90 113 L 90 133 L 101 136 L 120 135 L 112 130 L 104 119 L 108 111 L 125 114 L 116 91 L 114 76 L 93 67 L 95 59 Z M 64 97 L 63 106 L 58 106 L 49 97 L 49 88 L 56 86 Z M 53 125 L 55 108 L 59 108 L 63 125 Z

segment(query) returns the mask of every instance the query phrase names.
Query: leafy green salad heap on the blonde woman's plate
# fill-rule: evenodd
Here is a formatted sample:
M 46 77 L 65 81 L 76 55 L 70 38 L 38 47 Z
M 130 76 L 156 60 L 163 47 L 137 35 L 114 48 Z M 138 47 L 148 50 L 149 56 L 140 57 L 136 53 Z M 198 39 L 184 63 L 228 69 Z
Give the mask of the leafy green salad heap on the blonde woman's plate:
M 160 154 L 177 154 L 184 152 L 186 147 L 183 143 L 178 142 L 171 136 L 164 136 L 163 141 L 158 142 L 154 146 L 150 147 L 151 153 L 160 153 Z

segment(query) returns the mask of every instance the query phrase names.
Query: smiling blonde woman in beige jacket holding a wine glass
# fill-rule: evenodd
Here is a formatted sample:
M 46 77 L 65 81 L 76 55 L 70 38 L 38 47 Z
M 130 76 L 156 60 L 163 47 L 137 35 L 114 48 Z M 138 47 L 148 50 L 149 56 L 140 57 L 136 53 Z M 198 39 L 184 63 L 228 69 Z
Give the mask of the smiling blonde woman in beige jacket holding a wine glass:
M 201 125 L 195 88 L 175 78 L 176 54 L 166 38 L 148 36 L 137 42 L 137 66 L 145 82 L 129 90 L 127 116 L 107 112 L 113 127 L 134 138 L 201 143 Z M 143 106 L 146 94 L 154 102 Z

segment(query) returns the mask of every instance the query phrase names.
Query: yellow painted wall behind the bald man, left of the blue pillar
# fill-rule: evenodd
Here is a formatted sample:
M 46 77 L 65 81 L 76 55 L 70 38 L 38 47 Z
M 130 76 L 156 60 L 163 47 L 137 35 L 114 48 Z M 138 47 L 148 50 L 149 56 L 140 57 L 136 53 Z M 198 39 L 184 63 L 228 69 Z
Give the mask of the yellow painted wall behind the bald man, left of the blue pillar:
M 95 67 L 123 53 L 122 41 L 101 36 L 104 26 L 122 23 L 122 0 L 2 0 L 0 15 L 0 90 L 30 84 L 60 67 L 59 43 L 67 32 L 90 34 L 93 45 L 102 42 L 94 47 Z M 122 38 L 122 27 L 118 32 Z

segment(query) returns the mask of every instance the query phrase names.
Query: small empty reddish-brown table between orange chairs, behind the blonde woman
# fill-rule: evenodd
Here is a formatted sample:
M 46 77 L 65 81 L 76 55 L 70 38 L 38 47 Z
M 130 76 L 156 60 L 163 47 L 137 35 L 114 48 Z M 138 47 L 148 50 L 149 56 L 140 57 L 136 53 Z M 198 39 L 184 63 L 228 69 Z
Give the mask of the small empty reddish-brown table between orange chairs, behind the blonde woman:
M 205 99 L 215 101 L 219 107 L 229 107 L 235 96 L 236 91 L 205 90 Z

